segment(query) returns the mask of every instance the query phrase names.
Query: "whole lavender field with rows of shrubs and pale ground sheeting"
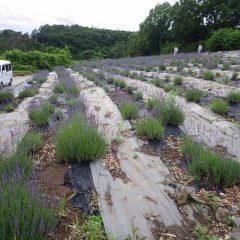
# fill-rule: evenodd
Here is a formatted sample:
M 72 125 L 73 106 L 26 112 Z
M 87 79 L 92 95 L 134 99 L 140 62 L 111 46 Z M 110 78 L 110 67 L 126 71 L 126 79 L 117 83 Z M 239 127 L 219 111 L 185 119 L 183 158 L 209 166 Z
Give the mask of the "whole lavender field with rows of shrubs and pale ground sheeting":
M 240 52 L 58 66 L 0 108 L 0 239 L 239 239 Z

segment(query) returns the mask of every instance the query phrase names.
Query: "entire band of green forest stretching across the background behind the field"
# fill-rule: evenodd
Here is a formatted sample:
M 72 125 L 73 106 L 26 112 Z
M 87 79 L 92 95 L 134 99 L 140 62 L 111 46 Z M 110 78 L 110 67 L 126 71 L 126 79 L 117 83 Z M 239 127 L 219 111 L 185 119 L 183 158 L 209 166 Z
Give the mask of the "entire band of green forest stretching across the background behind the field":
M 138 32 L 79 25 L 44 25 L 31 34 L 0 32 L 0 54 L 13 49 L 44 52 L 49 46 L 67 46 L 76 60 L 155 55 L 172 52 L 174 46 L 189 52 L 196 51 L 199 44 L 210 51 L 240 48 L 239 0 L 164 2 L 150 11 Z

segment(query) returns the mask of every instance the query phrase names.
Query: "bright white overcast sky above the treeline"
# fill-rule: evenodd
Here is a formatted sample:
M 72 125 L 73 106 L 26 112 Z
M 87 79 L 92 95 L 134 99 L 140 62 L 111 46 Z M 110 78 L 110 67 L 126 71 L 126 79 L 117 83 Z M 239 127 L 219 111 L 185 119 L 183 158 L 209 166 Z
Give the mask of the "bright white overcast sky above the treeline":
M 79 24 L 137 31 L 149 11 L 164 0 L 5 0 L 0 30 L 30 32 L 44 24 Z M 175 0 L 169 0 L 171 4 Z

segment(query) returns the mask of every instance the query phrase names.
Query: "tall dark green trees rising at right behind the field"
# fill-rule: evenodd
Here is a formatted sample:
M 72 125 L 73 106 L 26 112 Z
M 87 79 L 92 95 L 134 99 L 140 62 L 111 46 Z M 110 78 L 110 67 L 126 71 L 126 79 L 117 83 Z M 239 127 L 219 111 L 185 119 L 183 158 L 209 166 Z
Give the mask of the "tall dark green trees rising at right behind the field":
M 173 46 L 185 52 L 196 51 L 199 44 L 208 50 L 225 50 L 211 49 L 207 41 L 223 28 L 226 31 L 240 28 L 239 0 L 179 0 L 173 6 L 164 2 L 150 11 L 138 32 L 129 36 L 128 53 L 131 56 L 168 53 Z M 240 40 L 240 30 L 232 35 Z

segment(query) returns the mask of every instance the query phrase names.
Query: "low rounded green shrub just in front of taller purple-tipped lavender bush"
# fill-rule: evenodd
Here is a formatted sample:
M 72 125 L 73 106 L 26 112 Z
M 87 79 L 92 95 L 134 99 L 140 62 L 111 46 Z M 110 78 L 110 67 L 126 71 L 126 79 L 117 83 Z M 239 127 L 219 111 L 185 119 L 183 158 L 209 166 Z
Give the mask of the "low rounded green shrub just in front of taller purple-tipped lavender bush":
M 135 126 L 136 134 L 144 139 L 153 140 L 162 139 L 164 135 L 164 127 L 161 122 L 154 118 L 148 118 L 138 122 Z

